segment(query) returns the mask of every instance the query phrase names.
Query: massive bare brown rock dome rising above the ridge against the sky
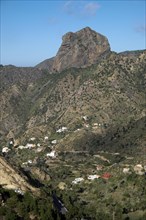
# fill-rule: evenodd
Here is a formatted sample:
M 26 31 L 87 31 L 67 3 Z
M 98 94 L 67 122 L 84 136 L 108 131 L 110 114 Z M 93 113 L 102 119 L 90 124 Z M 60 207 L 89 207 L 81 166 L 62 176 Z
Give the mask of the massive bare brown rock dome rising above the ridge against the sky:
M 48 59 L 36 67 L 50 72 L 61 72 L 70 67 L 87 67 L 110 51 L 107 38 L 86 27 L 62 38 L 62 44 L 54 58 Z

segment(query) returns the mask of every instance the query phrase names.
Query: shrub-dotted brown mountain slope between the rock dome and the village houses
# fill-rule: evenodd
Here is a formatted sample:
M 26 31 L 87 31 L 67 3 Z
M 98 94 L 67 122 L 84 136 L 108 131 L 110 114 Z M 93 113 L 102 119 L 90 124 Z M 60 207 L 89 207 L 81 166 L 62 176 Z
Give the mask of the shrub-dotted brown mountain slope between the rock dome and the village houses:
M 41 135 L 63 125 L 74 130 L 83 126 L 84 115 L 90 125 L 106 123 L 109 127 L 143 117 L 145 60 L 145 51 L 134 58 L 111 53 L 86 69 L 51 75 L 38 69 L 28 73 L 24 68 L 23 73 L 17 68 L 15 72 L 14 68 L 12 80 L 4 78 L 9 67 L 2 67 L 2 133 L 8 135 L 11 130 L 19 134 L 22 130 L 29 136 L 33 132 Z

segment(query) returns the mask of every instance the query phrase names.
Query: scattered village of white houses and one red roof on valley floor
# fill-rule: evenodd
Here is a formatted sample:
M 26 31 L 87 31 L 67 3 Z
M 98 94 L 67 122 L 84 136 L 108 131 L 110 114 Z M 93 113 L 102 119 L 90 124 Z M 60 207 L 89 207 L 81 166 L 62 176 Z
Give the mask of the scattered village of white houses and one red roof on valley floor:
M 88 127 L 89 125 L 86 123 L 88 121 L 87 116 L 82 118 L 85 122 L 84 126 Z M 101 128 L 103 125 L 93 123 L 93 129 L 99 127 Z M 77 129 L 74 132 L 80 130 Z M 60 133 L 67 134 L 68 128 L 62 126 L 56 129 L 56 134 Z M 90 155 L 87 151 L 62 152 L 56 147 L 60 141 L 61 139 L 50 139 L 46 135 L 40 140 L 36 137 L 30 137 L 25 145 L 21 145 L 12 138 L 7 146 L 2 147 L 1 154 L 6 158 L 9 156 L 14 157 L 15 162 L 18 162 L 17 165 L 25 170 L 31 171 L 32 167 L 40 166 L 50 176 L 49 182 L 53 183 L 53 176 L 56 177 L 55 185 L 61 190 L 67 188 L 67 185 L 90 184 L 91 181 L 98 183 L 99 179 L 110 181 L 118 175 L 146 175 L 146 161 L 136 161 L 134 157 L 127 156 L 117 163 L 115 162 L 116 158 L 120 156 L 120 153 L 117 152 L 99 151 L 94 155 Z M 19 160 L 17 160 L 18 158 Z M 13 160 L 13 158 L 11 159 Z M 63 170 L 62 176 L 59 175 L 61 170 Z M 19 193 L 19 190 L 16 189 L 16 192 Z

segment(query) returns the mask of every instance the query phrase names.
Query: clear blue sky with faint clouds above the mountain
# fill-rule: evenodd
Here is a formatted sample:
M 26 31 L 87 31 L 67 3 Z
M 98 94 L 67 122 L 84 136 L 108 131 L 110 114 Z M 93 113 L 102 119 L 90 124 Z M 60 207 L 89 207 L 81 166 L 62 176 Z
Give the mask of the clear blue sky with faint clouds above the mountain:
M 62 36 L 91 27 L 111 50 L 145 49 L 145 0 L 1 0 L 3 65 L 34 66 L 56 55 Z

